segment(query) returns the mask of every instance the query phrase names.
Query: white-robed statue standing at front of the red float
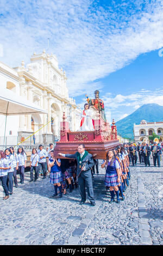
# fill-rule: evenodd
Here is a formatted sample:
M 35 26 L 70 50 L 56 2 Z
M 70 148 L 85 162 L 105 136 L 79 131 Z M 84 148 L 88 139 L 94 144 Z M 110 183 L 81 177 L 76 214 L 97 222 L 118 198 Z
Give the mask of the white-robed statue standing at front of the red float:
M 94 131 L 94 130 L 95 130 L 95 126 L 94 126 L 94 120 L 93 120 L 93 113 L 91 109 L 89 109 L 89 104 L 85 103 L 79 131 Z

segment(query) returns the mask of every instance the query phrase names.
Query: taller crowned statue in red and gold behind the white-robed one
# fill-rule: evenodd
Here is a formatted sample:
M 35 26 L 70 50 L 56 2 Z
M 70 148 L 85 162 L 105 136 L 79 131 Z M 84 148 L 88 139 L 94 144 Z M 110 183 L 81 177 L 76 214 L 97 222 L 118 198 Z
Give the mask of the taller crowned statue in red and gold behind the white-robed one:
M 95 90 L 95 98 L 96 99 L 90 99 L 86 94 L 86 101 L 89 103 L 90 106 L 93 106 L 96 108 L 96 110 L 99 111 L 101 114 L 102 119 L 106 122 L 106 117 L 105 117 L 105 110 L 104 110 L 104 102 L 99 99 L 99 90 Z

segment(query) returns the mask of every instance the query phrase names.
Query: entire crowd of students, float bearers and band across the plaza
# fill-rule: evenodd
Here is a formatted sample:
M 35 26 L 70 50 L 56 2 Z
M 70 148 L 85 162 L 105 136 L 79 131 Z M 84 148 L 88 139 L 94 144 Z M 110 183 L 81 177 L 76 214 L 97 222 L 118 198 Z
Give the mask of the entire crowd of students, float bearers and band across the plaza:
M 153 156 L 153 164 L 160 167 L 160 156 L 163 147 L 155 143 L 148 145 L 145 142 L 121 144 L 114 150 L 109 150 L 106 154 L 106 159 L 103 160 L 101 167 L 105 168 L 104 184 L 106 190 L 110 190 L 111 200 L 110 203 L 120 203 L 120 196 L 122 200 L 125 199 L 124 192 L 129 186 L 131 178 L 129 165 L 137 164 L 137 153 L 139 154 L 139 162 L 145 166 L 151 166 L 149 157 Z M 32 149 L 30 157 L 30 182 L 43 176 L 42 179 L 49 176 L 49 182 L 54 185 L 54 194 L 51 198 L 62 197 L 66 194 L 66 190 L 70 192 L 79 186 L 80 196 L 82 200 L 80 204 L 85 203 L 87 194 L 91 205 L 95 205 L 93 194 L 92 177 L 98 171 L 98 160 L 93 159 L 93 156 L 85 150 L 84 144 L 78 145 L 76 154 L 62 154 L 59 156 L 67 157 L 68 159 L 57 159 L 54 156 L 54 145 L 49 144 L 49 148 L 43 149 L 39 145 L 39 150 Z M 15 152 L 13 147 L 7 148 L 4 151 L 0 150 L 0 181 L 5 192 L 3 199 L 8 199 L 13 193 L 13 185 L 18 187 L 17 174 L 20 174 L 20 184 L 24 183 L 24 169 L 27 165 L 27 155 L 23 147 L 19 147 Z M 34 174 L 33 174 L 34 172 Z M 47 175 L 49 173 L 49 175 Z

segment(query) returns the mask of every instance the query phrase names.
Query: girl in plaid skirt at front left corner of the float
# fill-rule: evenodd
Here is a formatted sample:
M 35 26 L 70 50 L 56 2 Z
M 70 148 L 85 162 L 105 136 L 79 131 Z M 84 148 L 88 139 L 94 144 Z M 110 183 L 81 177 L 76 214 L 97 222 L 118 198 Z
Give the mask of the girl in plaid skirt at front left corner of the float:
M 49 159 L 49 167 L 51 167 L 50 183 L 54 185 L 55 194 L 51 197 L 58 196 L 57 188 L 59 188 L 59 197 L 62 197 L 61 188 L 61 161 L 60 159 L 55 159 L 54 150 L 51 151 L 51 158 Z

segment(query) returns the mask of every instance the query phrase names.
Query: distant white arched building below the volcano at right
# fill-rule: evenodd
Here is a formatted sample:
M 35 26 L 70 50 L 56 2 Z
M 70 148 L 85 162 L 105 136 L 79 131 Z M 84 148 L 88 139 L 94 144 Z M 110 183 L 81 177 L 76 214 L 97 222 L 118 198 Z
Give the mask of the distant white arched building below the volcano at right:
M 163 122 L 151 122 L 147 123 L 146 120 L 142 120 L 139 125 L 134 124 L 134 140 L 135 142 L 147 142 L 149 143 L 149 136 L 152 133 L 160 136 L 159 141 L 163 141 Z

